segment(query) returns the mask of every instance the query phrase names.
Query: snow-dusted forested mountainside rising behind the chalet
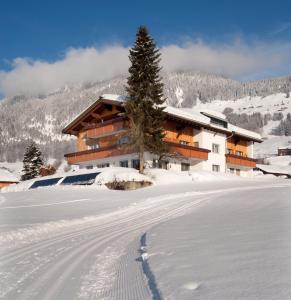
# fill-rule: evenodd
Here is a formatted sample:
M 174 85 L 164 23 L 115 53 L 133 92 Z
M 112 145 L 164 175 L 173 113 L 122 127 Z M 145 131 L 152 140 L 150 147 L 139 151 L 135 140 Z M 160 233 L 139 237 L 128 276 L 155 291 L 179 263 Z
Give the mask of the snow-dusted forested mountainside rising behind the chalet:
M 247 118 L 244 116 L 241 119 L 242 124 L 239 122 L 237 124 L 257 131 L 263 130 L 266 126 L 264 123 L 261 127 L 257 126 L 262 120 L 264 122 L 265 113 L 259 112 L 261 110 L 258 107 L 264 106 L 264 98 L 266 96 L 272 98 L 272 95 L 277 94 L 274 96 L 276 99 L 273 97 L 275 105 L 279 105 L 278 101 L 281 103 L 281 100 L 289 103 L 287 97 L 291 91 L 291 77 L 239 82 L 202 72 L 175 72 L 163 74 L 163 79 L 168 105 L 193 107 L 198 104 L 208 108 L 213 106 L 220 111 L 229 107 L 232 109 L 226 111 L 229 118 L 233 117 L 234 121 L 237 121 L 239 119 L 237 114 L 247 113 Z M 74 149 L 73 138 L 61 134 L 64 126 L 100 95 L 124 94 L 125 84 L 126 77 L 118 77 L 85 85 L 68 85 L 48 95 L 18 95 L 3 99 L 0 101 L 0 161 L 21 160 L 30 139 L 40 144 L 46 157 L 62 158 L 65 152 Z M 258 99 L 260 105 L 256 105 Z M 245 101 L 248 104 L 245 104 Z M 272 106 L 273 100 L 268 101 Z M 220 103 L 220 106 L 217 103 Z M 233 103 L 241 103 L 240 106 L 248 105 L 248 110 L 239 111 L 237 107 L 234 110 L 231 108 L 235 106 Z M 279 112 L 279 109 L 281 106 L 273 106 L 269 111 L 271 116 L 266 118 L 272 120 L 273 114 Z M 287 105 L 284 114 L 290 111 Z M 258 112 L 261 116 L 257 114 L 251 117 Z M 278 121 L 280 120 L 274 121 L 272 126 L 277 126 Z M 250 124 L 252 125 L 249 126 Z

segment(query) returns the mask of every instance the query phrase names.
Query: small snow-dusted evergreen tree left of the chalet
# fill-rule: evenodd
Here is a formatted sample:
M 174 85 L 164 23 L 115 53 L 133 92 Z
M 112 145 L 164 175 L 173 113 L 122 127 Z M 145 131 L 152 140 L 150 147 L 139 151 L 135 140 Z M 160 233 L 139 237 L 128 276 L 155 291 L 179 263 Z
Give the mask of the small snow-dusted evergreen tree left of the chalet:
M 42 166 L 43 159 L 41 151 L 35 142 L 31 142 L 24 153 L 21 180 L 29 180 L 39 176 L 39 170 Z

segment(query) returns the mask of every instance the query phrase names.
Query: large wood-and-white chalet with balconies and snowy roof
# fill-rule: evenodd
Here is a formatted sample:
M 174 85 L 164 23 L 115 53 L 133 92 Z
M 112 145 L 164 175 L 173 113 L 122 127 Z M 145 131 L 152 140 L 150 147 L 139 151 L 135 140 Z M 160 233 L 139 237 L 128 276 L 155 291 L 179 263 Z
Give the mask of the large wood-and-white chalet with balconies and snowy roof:
M 69 164 L 80 168 L 138 168 L 138 154 L 128 145 L 129 121 L 125 116 L 125 97 L 103 95 L 64 129 L 77 137 L 77 151 L 65 154 Z M 163 169 L 251 174 L 256 167 L 253 145 L 260 143 L 258 133 L 234 126 L 213 111 L 165 108 L 165 138 L 171 155 L 158 161 L 145 153 L 148 167 Z

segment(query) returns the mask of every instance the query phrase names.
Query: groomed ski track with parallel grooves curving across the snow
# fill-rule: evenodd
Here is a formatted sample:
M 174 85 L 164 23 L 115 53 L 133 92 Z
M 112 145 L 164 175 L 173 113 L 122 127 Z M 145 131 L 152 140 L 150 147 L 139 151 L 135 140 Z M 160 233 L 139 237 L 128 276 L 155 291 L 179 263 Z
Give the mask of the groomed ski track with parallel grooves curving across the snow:
M 271 188 L 281 186 L 286 185 Z M 113 213 L 4 233 L 0 236 L 0 298 L 152 299 L 138 261 L 144 232 L 218 194 L 268 187 L 162 195 Z

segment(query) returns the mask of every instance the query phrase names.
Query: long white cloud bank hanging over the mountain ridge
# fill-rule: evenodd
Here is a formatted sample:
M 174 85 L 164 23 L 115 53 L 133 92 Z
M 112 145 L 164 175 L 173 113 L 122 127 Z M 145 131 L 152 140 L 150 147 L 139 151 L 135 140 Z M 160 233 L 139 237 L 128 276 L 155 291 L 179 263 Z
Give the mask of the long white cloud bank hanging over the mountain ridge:
M 286 65 L 290 67 L 291 61 L 291 43 L 189 41 L 182 46 L 163 46 L 161 52 L 162 66 L 167 72 L 199 70 L 235 79 L 259 78 L 272 72 L 277 75 Z M 128 67 L 128 48 L 120 45 L 69 49 L 55 62 L 16 58 L 11 70 L 0 71 L 0 93 L 5 96 L 46 94 L 66 84 L 96 82 L 127 74 Z

